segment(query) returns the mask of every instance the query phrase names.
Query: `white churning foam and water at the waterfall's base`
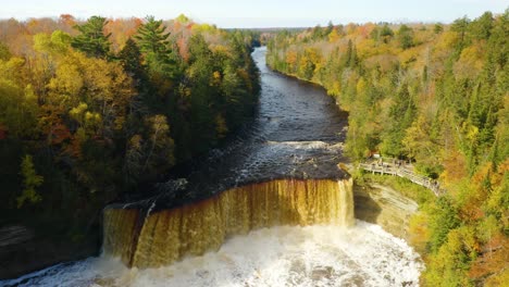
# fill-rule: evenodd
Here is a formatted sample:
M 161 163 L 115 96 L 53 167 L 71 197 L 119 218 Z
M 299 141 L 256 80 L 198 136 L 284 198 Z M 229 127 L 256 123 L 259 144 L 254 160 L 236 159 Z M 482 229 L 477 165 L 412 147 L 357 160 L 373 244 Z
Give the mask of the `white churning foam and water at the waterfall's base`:
M 90 258 L 0 286 L 418 286 L 423 264 L 380 226 L 281 226 L 229 238 L 218 252 L 160 269 Z

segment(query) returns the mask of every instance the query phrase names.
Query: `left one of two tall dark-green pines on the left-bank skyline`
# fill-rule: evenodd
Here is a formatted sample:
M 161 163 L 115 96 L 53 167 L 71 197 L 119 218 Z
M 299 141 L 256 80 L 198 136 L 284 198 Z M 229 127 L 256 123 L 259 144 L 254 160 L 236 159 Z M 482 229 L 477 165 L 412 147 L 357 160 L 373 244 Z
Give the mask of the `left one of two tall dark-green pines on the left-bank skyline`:
M 85 24 L 74 26 L 80 34 L 73 38 L 71 45 L 89 57 L 109 59 L 111 34 L 104 34 L 107 23 L 105 17 L 91 16 Z

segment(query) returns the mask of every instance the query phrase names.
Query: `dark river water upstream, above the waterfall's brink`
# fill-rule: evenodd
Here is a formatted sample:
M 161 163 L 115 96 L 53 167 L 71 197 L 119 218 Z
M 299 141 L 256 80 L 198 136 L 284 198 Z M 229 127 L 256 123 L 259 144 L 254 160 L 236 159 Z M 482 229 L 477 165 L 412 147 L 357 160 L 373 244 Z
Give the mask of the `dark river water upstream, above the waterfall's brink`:
M 227 147 L 212 150 L 206 161 L 184 175 L 160 183 L 158 187 L 164 192 L 158 197 L 129 202 L 131 207 L 156 211 L 274 178 L 346 176 L 336 165 L 346 161 L 342 148 L 347 114 L 339 112 L 323 88 L 271 71 L 265 52 L 265 48 L 258 48 L 252 53 L 262 85 L 252 126 Z

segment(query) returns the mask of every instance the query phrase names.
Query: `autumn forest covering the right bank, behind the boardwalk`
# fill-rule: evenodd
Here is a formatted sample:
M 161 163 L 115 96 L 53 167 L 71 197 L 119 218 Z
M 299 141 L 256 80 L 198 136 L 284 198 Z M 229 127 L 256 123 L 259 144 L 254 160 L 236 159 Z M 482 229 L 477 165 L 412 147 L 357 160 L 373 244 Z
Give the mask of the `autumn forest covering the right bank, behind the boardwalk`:
M 425 286 L 509 282 L 509 10 L 451 24 L 278 33 L 269 65 L 349 112 L 346 152 L 412 161 L 445 196 L 421 200 L 412 245 Z

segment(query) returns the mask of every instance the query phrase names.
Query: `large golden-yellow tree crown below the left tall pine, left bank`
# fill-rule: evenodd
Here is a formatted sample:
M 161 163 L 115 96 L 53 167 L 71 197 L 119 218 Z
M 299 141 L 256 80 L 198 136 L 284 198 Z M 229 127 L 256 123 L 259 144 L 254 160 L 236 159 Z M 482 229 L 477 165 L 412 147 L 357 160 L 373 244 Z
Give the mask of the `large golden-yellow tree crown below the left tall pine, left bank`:
M 48 89 L 48 105 L 66 114 L 85 103 L 86 109 L 79 112 L 84 120 L 73 124 L 86 128 L 88 137 L 109 139 L 123 129 L 134 96 L 132 78 L 119 63 L 76 52 L 62 59 Z

